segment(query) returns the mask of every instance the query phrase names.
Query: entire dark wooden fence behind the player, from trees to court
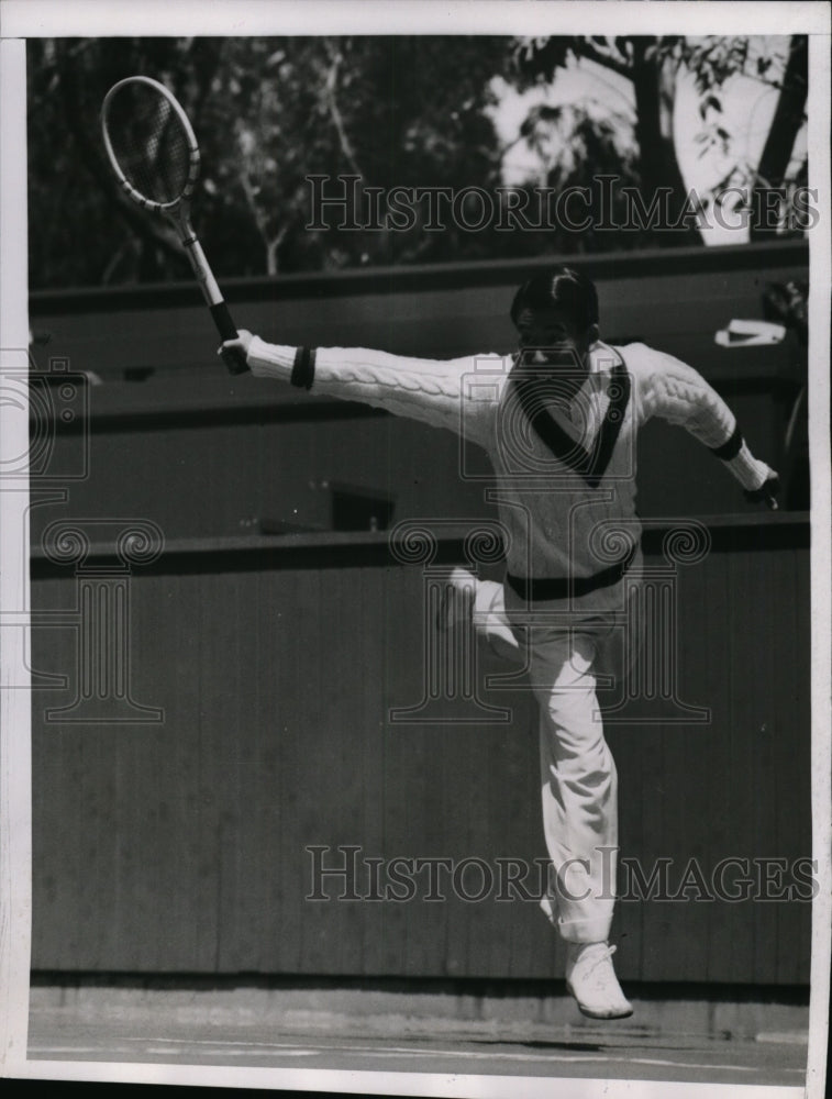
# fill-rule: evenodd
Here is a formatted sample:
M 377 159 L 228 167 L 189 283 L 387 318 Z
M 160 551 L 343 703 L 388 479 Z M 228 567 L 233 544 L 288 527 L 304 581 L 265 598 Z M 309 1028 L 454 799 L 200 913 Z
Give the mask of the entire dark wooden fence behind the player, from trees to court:
M 791 460 L 795 345 L 752 354 L 712 342 L 731 315 L 758 314 L 759 258 L 729 257 L 715 273 L 697 254 L 673 287 L 655 267 L 624 274 L 615 259 L 600 288 L 620 334 L 702 369 L 778 464 Z M 766 278 L 784 278 L 805 255 L 792 246 L 766 258 Z M 368 282 L 352 298 L 320 287 L 303 297 L 301 280 L 282 320 L 254 288 L 237 312 L 271 338 L 299 338 L 317 318 L 319 343 L 424 355 L 459 354 L 461 341 L 475 349 L 479 323 L 484 349 L 504 349 L 503 322 L 484 321 L 504 297 L 497 274 L 479 286 L 470 273 L 461 285 L 450 277 L 401 293 Z M 103 379 L 78 381 L 73 401 L 89 413 L 57 433 L 33 478 L 34 968 L 559 974 L 536 903 L 500 893 L 510 866 L 545 854 L 528 691 L 500 689 L 504 669 L 480 653 L 473 697 L 440 689 L 418 714 L 428 720 L 393 720 L 435 686 L 431 574 L 402 564 L 388 532 L 333 521 L 341 486 L 353 519 L 386 504 L 390 524 L 434 524 L 437 564 L 459 560 L 466 530 L 492 518 L 481 482 L 464 476 L 484 467 L 448 433 L 224 377 L 203 347 L 201 310 L 179 293 L 33 303 L 33 325 L 53 333 L 53 374 Z M 628 313 L 626 300 L 637 308 Z M 48 384 L 54 399 L 58 390 Z M 745 504 L 678 429 L 651 425 L 640 465 L 647 565 L 667 565 L 665 535 L 680 515 L 699 517 L 710 550 L 673 573 L 675 696 L 658 691 L 648 712 L 631 700 L 608 725 L 634 895 L 617 910 L 619 968 L 629 980 L 805 984 L 808 515 Z M 110 664 L 90 670 L 82 654 L 104 629 L 123 645 L 104 646 Z M 511 720 L 492 720 L 500 710 Z M 329 875 L 330 899 L 310 899 L 315 859 L 337 869 L 353 857 L 356 898 L 335 899 L 348 881 Z M 415 858 L 479 861 L 457 881 L 469 899 L 444 870 L 443 901 L 426 899 L 425 869 L 410 875 L 412 899 L 374 899 L 374 866 L 384 895 L 386 875 L 398 867 L 407 879 Z M 725 877 L 740 896 L 747 869 L 757 897 L 780 899 L 696 899 L 694 879 L 681 891 L 696 867 L 713 885 L 726 858 L 740 861 Z M 679 897 L 639 900 L 633 874 L 668 859 L 667 890 Z M 797 897 L 783 899 L 783 886 Z

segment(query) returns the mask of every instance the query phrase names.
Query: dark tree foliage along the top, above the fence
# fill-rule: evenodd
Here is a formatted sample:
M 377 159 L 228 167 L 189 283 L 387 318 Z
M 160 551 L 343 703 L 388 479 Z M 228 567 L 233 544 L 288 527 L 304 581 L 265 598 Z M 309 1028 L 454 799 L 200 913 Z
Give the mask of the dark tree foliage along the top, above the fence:
M 376 264 L 608 251 L 655 243 L 653 233 L 601 231 L 628 187 L 684 182 L 673 106 L 683 69 L 698 81 L 702 142 L 728 142 L 720 91 L 737 73 L 777 87 L 778 109 L 755 186 L 787 181 L 806 104 L 806 38 L 791 40 L 779 80 L 748 38 L 359 36 L 292 38 L 30 40 L 30 281 L 33 288 L 190 278 L 170 226 L 135 207 L 104 157 L 99 112 L 119 79 L 144 74 L 179 98 L 197 132 L 202 177 L 193 221 L 219 278 Z M 583 103 L 539 103 L 509 144 L 524 142 L 543 178 L 515 189 L 534 207 L 535 186 L 589 190 L 615 184 L 612 210 L 594 197 L 581 232 L 557 222 L 511 231 L 500 211 L 507 152 L 498 137 L 495 78 L 518 89 L 551 84 L 575 59 L 630 81 L 634 112 L 615 116 Z M 553 135 L 557 138 L 553 142 Z M 743 169 L 737 157 L 735 173 Z M 747 167 L 747 166 L 745 166 Z M 794 168 L 794 166 L 792 166 Z M 356 225 L 315 220 L 310 176 L 356 178 Z M 794 171 L 792 171 L 794 176 Z M 798 173 L 799 177 L 799 173 Z M 748 177 L 752 178 L 752 177 Z M 797 178 L 797 177 L 796 177 Z M 391 188 L 481 188 L 495 218 L 472 232 L 447 215 L 431 230 L 417 203 L 412 224 L 367 218 Z M 310 227 L 317 225 L 317 227 Z M 507 225 L 508 230 L 507 231 Z M 364 227 L 360 227 L 364 226 Z M 599 227 L 600 226 L 600 227 Z M 699 242 L 695 229 L 661 243 Z

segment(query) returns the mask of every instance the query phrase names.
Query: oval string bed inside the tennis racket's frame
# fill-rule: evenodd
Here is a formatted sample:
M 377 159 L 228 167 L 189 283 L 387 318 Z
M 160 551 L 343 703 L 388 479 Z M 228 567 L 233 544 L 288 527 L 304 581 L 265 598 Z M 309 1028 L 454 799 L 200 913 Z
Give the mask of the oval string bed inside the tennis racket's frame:
M 119 169 L 145 201 L 166 206 L 186 193 L 197 154 L 165 96 L 147 85 L 125 85 L 109 103 L 106 125 Z

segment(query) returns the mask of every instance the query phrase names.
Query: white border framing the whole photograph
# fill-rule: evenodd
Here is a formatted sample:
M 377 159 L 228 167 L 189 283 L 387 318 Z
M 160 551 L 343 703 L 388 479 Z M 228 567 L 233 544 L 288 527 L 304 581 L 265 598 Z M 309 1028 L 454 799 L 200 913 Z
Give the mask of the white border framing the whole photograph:
M 614 33 L 743 33 L 742 2 L 526 2 L 514 0 L 0 0 L 0 380 L 27 363 L 26 242 L 26 37 L 374 34 L 533 34 L 586 32 L 602 13 Z M 810 455 L 812 471 L 812 828 L 819 895 L 812 912 L 809 1096 L 823 1094 L 832 935 L 832 751 L 830 747 L 830 10 L 823 2 L 755 4 L 757 34 L 810 35 L 810 186 L 820 196 L 820 229 L 810 236 Z M 23 155 L 21 155 L 23 153 Z M 27 446 L 27 409 L 0 407 L 3 446 Z M 22 453 L 21 451 L 21 453 Z M 0 606 L 29 607 L 26 484 L 3 486 L 0 523 Z M 22 603 L 21 603 L 22 600 Z M 26 1056 L 31 925 L 31 713 L 30 696 L 11 689 L 29 668 L 29 632 L 0 631 L 0 1076 L 33 1079 L 189 1084 L 385 1095 L 501 1097 L 551 1095 L 552 1080 L 517 1077 L 448 1077 L 445 1074 L 378 1074 L 237 1067 L 38 1062 Z M 646 1080 L 558 1080 L 558 1096 L 673 1097 L 725 1095 L 725 1085 L 674 1085 Z M 729 1091 L 733 1091 L 729 1087 Z M 744 1087 L 743 1096 L 770 1099 L 802 1095 L 802 1088 Z

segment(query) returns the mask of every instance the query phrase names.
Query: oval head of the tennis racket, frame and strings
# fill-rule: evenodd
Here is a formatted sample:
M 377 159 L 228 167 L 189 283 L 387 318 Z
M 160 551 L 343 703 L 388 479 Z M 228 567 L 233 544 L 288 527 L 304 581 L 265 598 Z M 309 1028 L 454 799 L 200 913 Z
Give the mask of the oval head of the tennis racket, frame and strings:
M 199 145 L 188 115 L 163 84 L 131 76 L 101 107 L 104 148 L 122 188 L 147 210 L 173 212 L 199 178 Z

